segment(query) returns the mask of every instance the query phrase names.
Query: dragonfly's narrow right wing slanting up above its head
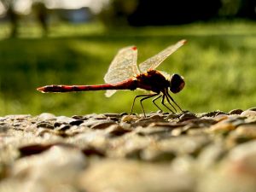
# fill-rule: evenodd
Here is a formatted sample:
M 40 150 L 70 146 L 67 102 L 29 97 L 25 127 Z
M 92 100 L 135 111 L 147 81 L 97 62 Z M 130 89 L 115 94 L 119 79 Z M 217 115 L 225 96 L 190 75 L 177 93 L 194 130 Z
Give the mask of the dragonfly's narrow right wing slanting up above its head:
M 186 43 L 186 40 L 181 40 L 177 42 L 177 44 L 173 44 L 166 49 L 162 50 L 159 54 L 154 55 L 146 61 L 143 61 L 139 68 L 142 73 L 145 73 L 150 70 L 154 70 L 156 67 L 160 65 L 162 61 L 164 61 L 169 55 L 172 55 L 178 48 L 183 46 Z

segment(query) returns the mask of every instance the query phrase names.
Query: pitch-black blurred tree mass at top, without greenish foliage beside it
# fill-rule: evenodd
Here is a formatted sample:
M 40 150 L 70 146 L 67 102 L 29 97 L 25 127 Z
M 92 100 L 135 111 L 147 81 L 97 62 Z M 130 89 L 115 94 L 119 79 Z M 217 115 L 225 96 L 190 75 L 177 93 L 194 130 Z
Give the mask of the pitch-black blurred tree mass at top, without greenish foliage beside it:
M 183 24 L 212 19 L 220 7 L 220 0 L 139 0 L 128 20 L 134 26 Z

